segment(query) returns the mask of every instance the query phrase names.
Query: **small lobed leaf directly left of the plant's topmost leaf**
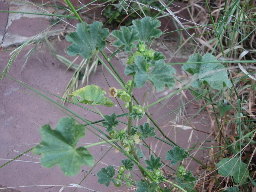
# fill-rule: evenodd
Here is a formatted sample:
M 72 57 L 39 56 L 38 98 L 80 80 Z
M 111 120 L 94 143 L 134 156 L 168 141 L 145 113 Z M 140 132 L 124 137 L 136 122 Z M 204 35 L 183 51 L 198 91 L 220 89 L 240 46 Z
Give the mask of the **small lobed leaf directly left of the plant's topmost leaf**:
M 138 32 L 132 27 L 121 27 L 121 31 L 114 30 L 112 35 L 117 38 L 117 41 L 114 42 L 116 47 L 124 47 L 125 52 L 132 52 L 132 48 L 136 47 L 133 43 L 139 40 Z

